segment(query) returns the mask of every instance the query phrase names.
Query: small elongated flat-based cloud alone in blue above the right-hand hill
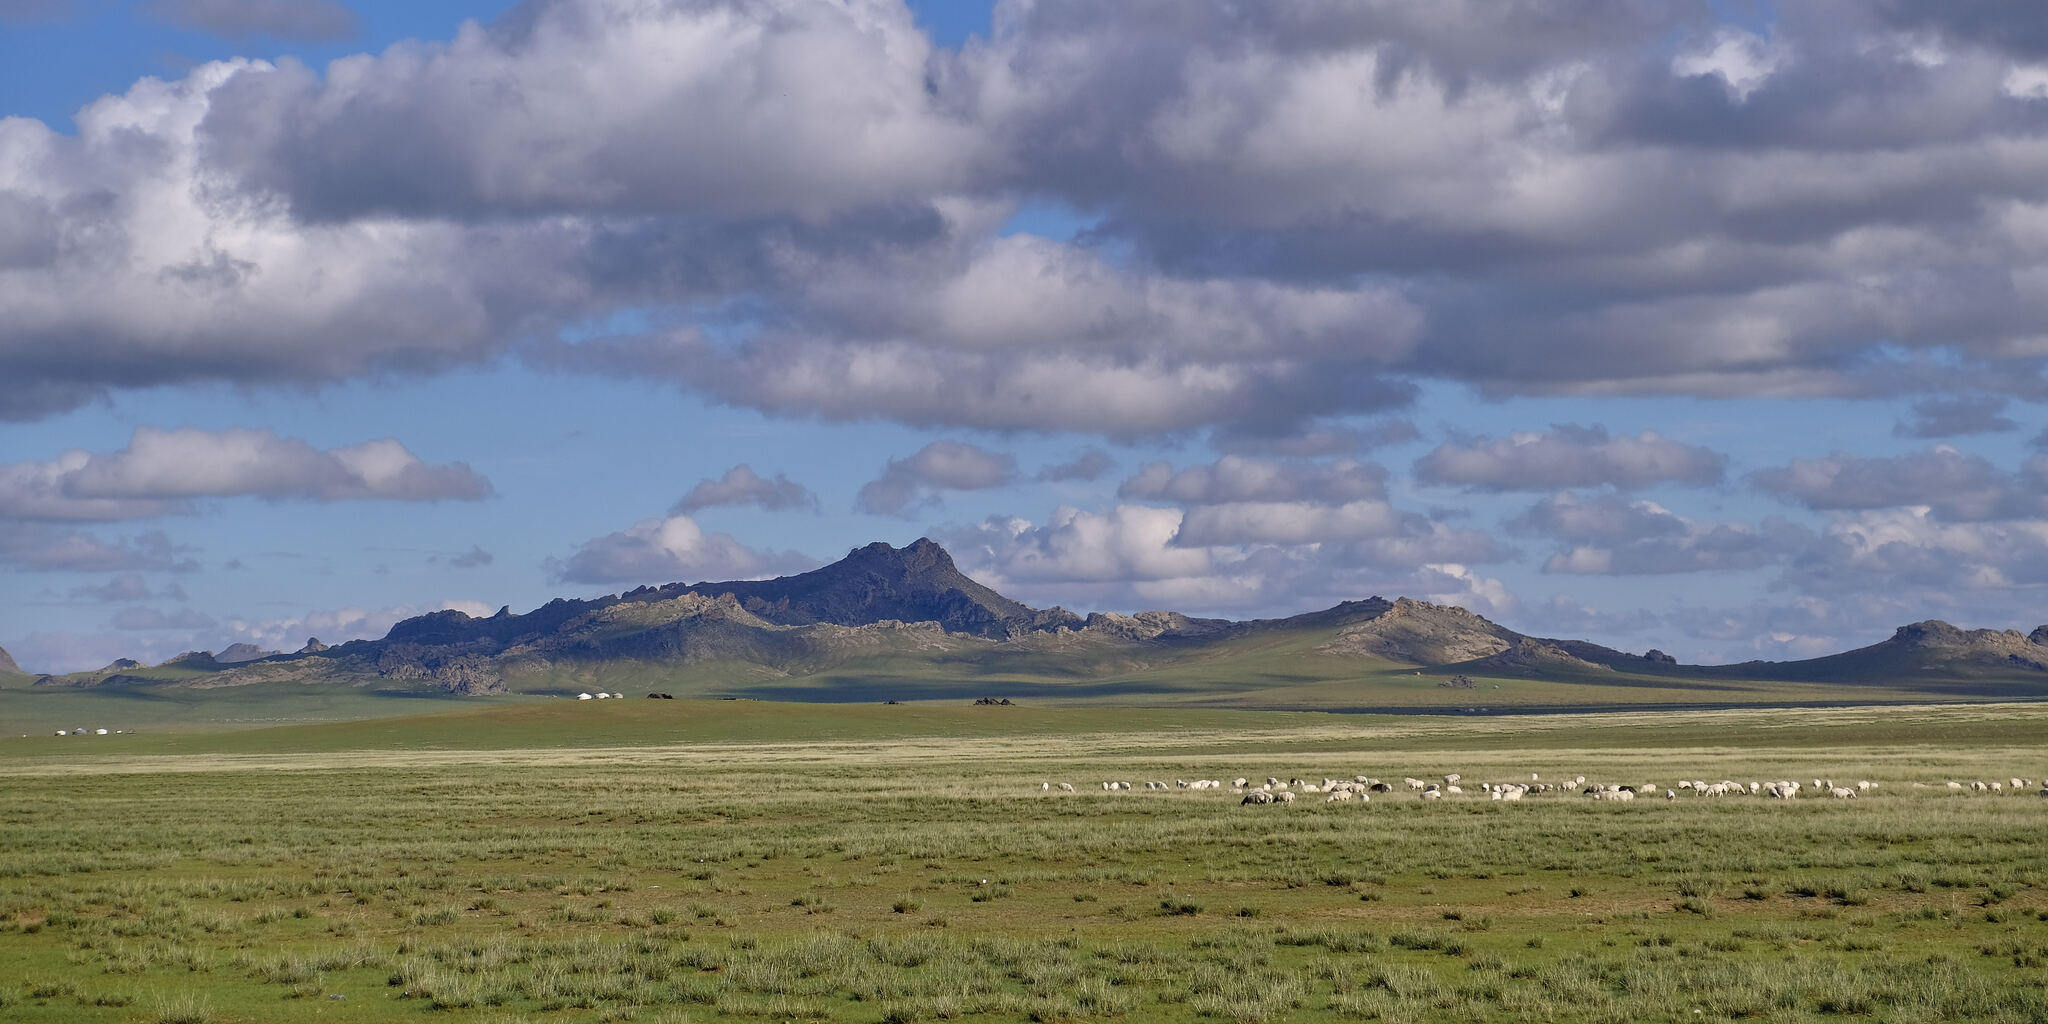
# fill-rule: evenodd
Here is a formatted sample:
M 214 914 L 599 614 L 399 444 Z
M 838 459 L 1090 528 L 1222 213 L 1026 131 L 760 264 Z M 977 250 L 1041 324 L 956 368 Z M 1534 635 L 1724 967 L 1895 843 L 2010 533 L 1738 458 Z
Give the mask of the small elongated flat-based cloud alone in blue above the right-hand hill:
M 1718 453 L 1663 438 L 1653 430 L 1610 436 L 1602 426 L 1556 424 L 1548 434 L 1438 444 L 1415 463 L 1415 479 L 1475 492 L 1708 485 L 1720 481 L 1724 463 Z

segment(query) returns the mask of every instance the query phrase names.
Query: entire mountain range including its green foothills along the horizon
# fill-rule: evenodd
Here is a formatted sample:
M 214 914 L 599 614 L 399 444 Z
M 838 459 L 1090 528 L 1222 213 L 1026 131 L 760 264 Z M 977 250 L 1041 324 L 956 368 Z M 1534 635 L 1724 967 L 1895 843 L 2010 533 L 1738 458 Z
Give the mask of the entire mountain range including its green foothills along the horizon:
M 18 676 L 0 651 L 0 678 Z M 985 692 L 1163 698 L 1241 707 L 1473 700 L 1753 700 L 2048 694 L 2048 627 L 1898 627 L 1808 662 L 1679 666 L 1661 651 L 1516 633 L 1470 610 L 1366 598 L 1290 618 L 1032 608 L 958 571 L 930 539 L 885 543 L 799 575 L 645 586 L 551 600 L 526 614 L 430 612 L 383 639 L 299 651 L 238 643 L 162 666 L 35 678 L 39 686 L 215 688 L 356 684 L 418 692 L 571 692 L 653 686 L 690 696 L 809 700 Z M 1507 684 L 1509 690 L 1495 696 Z M 1763 686 L 1769 684 L 1769 686 Z M 1589 690 L 1591 688 L 1591 690 Z

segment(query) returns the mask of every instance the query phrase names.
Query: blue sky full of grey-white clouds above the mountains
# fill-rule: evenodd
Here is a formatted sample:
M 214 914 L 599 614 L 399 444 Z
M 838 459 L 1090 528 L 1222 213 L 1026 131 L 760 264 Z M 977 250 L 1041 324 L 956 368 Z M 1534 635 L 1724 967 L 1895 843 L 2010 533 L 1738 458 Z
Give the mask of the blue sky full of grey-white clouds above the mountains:
M 932 537 L 1686 662 L 2048 623 L 2048 12 L 0 0 L 0 647 Z

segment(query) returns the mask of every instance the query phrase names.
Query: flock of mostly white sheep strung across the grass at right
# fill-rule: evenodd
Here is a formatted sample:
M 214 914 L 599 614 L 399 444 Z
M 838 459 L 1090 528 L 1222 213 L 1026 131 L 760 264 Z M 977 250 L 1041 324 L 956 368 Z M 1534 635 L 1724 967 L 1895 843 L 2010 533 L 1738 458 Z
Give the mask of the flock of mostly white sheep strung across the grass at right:
M 1280 780 L 1268 776 L 1266 782 L 1253 782 L 1251 778 L 1233 778 L 1223 782 L 1219 778 L 1178 778 L 1167 782 L 1143 782 L 1149 791 L 1229 791 L 1233 797 L 1243 797 L 1241 805 L 1284 805 L 1296 803 L 1303 797 L 1321 797 L 1323 803 L 1370 803 L 1374 795 L 1391 797 L 1397 793 L 1413 793 L 1419 801 L 1444 801 L 1452 797 L 1466 797 L 1466 786 L 1458 772 L 1444 774 L 1442 782 L 1423 778 L 1401 778 L 1401 784 L 1382 782 L 1372 776 L 1352 776 L 1352 778 L 1323 778 L 1321 782 L 1311 782 L 1307 778 Z M 1927 782 L 1913 782 L 1915 788 L 1927 788 Z M 1075 793 L 1073 782 L 1040 782 L 1044 793 Z M 1130 782 L 1104 780 L 1104 793 L 1122 793 L 1133 788 Z M 1774 782 L 1737 782 L 1722 778 L 1720 782 L 1708 782 L 1704 778 L 1681 778 L 1673 786 L 1661 782 L 1587 782 L 1585 776 L 1573 776 L 1565 782 L 1544 782 L 1540 774 L 1530 772 L 1528 782 L 1475 782 L 1473 797 L 1485 793 L 1493 801 L 1520 801 L 1530 793 L 1575 793 L 1581 797 L 1591 797 L 1595 801 L 1634 801 L 1636 797 L 1653 799 L 1663 797 L 1665 801 L 1679 799 L 1679 793 L 1692 793 L 1698 797 L 1769 797 L 1778 801 L 1798 799 L 1802 793 L 1812 793 L 1817 797 L 1853 801 L 1858 795 L 1878 788 L 1878 782 L 1868 778 L 1835 784 L 1833 778 L 1815 778 L 1812 786 L 1796 778 L 1780 778 Z M 2005 782 L 1946 782 L 1950 791 L 1962 793 L 2023 793 L 2034 788 L 2032 778 L 2013 776 Z M 2042 797 L 2048 797 L 2048 780 L 2042 782 Z

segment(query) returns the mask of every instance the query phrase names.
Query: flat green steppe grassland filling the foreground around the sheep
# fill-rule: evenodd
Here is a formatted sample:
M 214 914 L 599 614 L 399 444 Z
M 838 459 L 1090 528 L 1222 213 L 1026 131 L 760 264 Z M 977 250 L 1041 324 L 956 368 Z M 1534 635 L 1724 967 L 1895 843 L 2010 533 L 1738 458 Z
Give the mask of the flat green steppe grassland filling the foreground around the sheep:
M 797 729 L 817 715 L 788 709 Z M 2038 782 L 2048 709 L 1253 721 L 25 748 L 0 788 L 0 1018 L 2048 1020 L 2048 799 L 1944 786 Z M 1878 786 L 1100 791 L 1442 772 Z

